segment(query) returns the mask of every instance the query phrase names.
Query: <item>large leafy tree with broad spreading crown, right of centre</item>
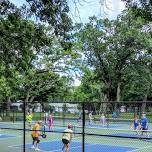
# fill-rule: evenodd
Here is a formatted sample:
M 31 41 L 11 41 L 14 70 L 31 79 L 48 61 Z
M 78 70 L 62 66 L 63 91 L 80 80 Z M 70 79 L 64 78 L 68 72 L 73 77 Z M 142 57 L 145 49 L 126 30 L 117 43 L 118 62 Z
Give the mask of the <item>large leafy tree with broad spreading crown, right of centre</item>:
M 88 66 L 97 74 L 96 80 L 106 88 L 102 90 L 106 101 L 123 100 L 121 90 L 127 84 L 124 82 L 127 67 L 133 66 L 138 56 L 151 48 L 151 36 L 141 30 L 143 25 L 144 20 L 134 20 L 132 14 L 124 12 L 115 21 L 92 17 L 78 30 L 78 43 Z

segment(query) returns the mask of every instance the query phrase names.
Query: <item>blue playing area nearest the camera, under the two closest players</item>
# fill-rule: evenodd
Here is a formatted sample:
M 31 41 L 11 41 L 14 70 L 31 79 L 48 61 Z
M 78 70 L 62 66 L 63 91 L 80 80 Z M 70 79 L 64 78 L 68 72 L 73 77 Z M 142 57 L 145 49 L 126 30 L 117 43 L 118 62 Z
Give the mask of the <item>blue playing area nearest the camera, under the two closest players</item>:
M 31 144 L 26 144 L 26 149 L 31 148 Z M 16 147 L 16 148 L 22 148 L 23 145 L 14 145 L 10 147 Z M 62 148 L 62 142 L 57 140 L 57 141 L 51 141 L 51 142 L 41 142 L 39 145 L 39 148 L 43 152 L 61 152 Z M 102 152 L 127 152 L 127 151 L 132 151 L 136 150 L 138 148 L 135 147 L 123 147 L 123 146 L 113 146 L 113 145 L 105 145 L 105 144 L 85 144 L 85 151 L 86 152 L 97 152 L 97 151 L 102 151 Z M 82 151 L 82 144 L 81 142 L 75 142 L 73 141 L 70 145 L 70 152 L 81 152 Z

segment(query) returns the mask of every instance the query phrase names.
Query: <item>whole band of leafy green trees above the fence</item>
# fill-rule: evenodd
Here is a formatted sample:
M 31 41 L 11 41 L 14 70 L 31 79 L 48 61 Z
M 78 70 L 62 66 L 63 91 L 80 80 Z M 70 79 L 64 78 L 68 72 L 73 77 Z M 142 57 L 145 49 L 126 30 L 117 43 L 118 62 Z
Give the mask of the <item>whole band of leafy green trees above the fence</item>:
M 75 25 L 66 0 L 26 2 L 0 3 L 1 101 L 152 99 L 151 1 Z M 72 86 L 74 69 L 80 86 Z

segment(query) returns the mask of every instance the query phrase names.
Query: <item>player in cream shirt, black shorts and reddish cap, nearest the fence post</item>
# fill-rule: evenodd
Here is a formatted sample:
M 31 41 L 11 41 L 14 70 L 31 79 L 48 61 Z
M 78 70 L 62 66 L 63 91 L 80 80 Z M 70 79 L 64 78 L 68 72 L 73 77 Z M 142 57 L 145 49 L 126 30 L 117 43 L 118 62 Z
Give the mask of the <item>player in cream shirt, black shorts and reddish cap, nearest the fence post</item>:
M 64 130 L 64 133 L 62 135 L 62 142 L 63 142 L 62 152 L 64 151 L 64 149 L 66 150 L 66 152 L 69 152 L 69 147 L 73 134 L 72 128 L 73 126 L 69 124 L 68 128 Z

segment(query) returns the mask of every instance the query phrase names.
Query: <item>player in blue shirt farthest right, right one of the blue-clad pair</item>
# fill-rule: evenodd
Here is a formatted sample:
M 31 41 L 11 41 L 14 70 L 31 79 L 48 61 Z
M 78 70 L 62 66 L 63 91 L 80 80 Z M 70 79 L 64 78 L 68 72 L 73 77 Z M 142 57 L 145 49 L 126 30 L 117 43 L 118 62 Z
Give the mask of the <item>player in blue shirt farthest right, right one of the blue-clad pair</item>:
M 148 119 L 146 118 L 146 114 L 145 113 L 142 114 L 142 118 L 141 118 L 140 124 L 141 124 L 142 135 L 144 134 L 144 132 L 146 132 L 146 134 L 147 134 Z

